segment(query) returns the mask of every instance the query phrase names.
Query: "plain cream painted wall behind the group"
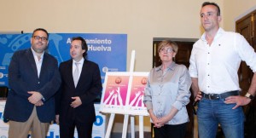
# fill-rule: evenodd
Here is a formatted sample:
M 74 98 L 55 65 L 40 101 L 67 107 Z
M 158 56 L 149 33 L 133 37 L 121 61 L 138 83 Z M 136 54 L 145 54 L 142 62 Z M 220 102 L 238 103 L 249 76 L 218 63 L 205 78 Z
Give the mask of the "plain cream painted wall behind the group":
M 154 37 L 198 38 L 202 29 L 199 12 L 203 0 L 0 0 L 0 32 L 32 32 L 43 27 L 49 32 L 125 33 L 128 35 L 127 70 L 135 49 L 136 72 L 152 67 Z M 234 19 L 256 5 L 255 0 L 215 0 L 223 11 L 221 26 L 232 31 Z M 118 115 L 113 131 L 122 130 Z M 136 124 L 137 121 L 136 121 Z M 148 118 L 144 129 L 150 130 Z

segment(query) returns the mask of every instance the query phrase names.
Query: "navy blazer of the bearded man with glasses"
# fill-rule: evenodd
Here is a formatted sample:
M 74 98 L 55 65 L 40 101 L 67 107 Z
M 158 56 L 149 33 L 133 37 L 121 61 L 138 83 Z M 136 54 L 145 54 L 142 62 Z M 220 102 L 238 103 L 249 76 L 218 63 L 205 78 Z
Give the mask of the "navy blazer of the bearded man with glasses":
M 9 64 L 9 95 L 3 116 L 9 120 L 25 122 L 31 115 L 33 104 L 28 101 L 28 91 L 38 91 L 44 96 L 44 105 L 37 106 L 38 118 L 47 123 L 55 119 L 53 95 L 61 85 L 58 62 L 44 52 L 41 72 L 38 78 L 32 49 L 15 52 Z

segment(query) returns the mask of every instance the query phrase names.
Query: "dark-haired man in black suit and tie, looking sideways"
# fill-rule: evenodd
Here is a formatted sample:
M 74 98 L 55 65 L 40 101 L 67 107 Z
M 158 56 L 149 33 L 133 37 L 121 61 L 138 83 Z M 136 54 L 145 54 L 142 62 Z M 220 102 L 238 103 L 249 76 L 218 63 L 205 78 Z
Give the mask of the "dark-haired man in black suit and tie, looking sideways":
M 102 81 L 99 66 L 86 60 L 87 50 L 83 37 L 73 37 L 72 59 L 59 67 L 62 83 L 55 99 L 61 138 L 73 138 L 75 127 L 79 138 L 91 138 L 92 125 L 96 121 L 93 101 L 101 94 Z

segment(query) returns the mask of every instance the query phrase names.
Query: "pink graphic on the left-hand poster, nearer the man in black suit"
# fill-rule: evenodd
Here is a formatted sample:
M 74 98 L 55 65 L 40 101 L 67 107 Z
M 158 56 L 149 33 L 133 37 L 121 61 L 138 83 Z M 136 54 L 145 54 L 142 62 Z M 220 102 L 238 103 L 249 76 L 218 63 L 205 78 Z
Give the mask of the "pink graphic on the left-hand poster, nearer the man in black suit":
M 129 76 L 108 76 L 103 103 L 112 106 L 125 106 Z

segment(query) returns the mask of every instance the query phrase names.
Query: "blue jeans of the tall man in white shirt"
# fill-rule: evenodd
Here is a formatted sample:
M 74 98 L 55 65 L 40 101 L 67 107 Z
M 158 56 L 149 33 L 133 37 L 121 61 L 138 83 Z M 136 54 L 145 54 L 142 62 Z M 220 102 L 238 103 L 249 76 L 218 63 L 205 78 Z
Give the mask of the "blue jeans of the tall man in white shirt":
M 197 110 L 199 137 L 215 138 L 220 124 L 225 138 L 243 138 L 244 114 L 241 106 L 232 109 L 234 106 L 236 104 L 225 104 L 224 99 L 202 98 Z

